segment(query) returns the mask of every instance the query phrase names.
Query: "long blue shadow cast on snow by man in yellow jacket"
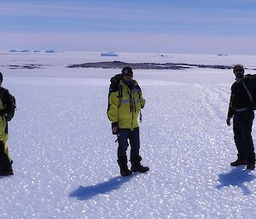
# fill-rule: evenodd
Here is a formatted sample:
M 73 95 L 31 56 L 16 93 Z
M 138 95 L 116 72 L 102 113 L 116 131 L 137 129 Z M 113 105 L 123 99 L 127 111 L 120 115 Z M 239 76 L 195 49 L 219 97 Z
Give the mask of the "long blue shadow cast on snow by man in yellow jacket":
M 109 193 L 113 190 L 119 189 L 125 182 L 129 182 L 135 174 L 131 176 L 116 176 L 109 179 L 107 182 L 98 183 L 95 186 L 88 187 L 78 187 L 72 193 L 69 194 L 69 197 L 77 198 L 79 200 L 91 199 L 97 194 Z

